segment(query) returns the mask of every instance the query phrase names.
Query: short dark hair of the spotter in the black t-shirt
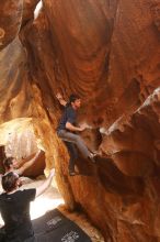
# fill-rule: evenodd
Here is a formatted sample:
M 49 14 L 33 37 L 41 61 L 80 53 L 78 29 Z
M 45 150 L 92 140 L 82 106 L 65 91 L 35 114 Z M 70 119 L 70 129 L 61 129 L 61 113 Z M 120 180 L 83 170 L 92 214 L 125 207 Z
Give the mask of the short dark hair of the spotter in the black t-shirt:
M 14 172 L 7 173 L 2 176 L 2 188 L 10 193 L 16 187 L 16 180 L 19 179 L 19 175 Z

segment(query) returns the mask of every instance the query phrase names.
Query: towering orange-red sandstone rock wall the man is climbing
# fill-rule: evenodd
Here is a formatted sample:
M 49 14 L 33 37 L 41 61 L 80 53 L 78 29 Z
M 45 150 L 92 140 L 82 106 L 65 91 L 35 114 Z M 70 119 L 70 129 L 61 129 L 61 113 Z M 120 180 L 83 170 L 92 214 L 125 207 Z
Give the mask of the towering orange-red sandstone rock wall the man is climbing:
M 44 0 L 34 19 L 37 2 L 0 2 L 0 122 L 33 118 L 68 208 L 106 241 L 159 241 L 159 1 Z M 76 177 L 56 135 L 57 91 L 82 98 L 82 136 L 101 152 L 95 165 L 79 155 Z

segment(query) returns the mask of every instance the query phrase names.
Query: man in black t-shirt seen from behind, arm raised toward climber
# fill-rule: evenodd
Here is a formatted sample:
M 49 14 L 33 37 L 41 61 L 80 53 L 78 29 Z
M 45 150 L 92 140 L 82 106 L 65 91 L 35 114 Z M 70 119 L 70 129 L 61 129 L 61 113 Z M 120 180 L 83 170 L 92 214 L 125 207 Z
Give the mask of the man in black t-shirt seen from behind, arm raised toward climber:
M 55 169 L 36 189 L 19 190 L 21 180 L 14 172 L 2 176 L 3 194 L 0 195 L 0 212 L 4 221 L 1 242 L 34 242 L 34 231 L 30 218 L 30 202 L 42 195 L 52 184 Z M 2 234 L 1 234 L 2 237 Z

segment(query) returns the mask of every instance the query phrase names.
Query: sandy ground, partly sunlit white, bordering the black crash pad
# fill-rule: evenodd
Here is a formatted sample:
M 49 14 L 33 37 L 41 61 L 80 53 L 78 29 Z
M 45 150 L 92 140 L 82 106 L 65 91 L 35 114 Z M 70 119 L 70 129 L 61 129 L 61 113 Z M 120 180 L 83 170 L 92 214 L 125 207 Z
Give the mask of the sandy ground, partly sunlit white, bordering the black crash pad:
M 44 176 L 38 177 L 36 180 L 32 180 L 27 177 L 22 179 L 24 185 L 21 187 L 21 189 L 36 188 L 43 183 Z M 2 191 L 1 187 L 0 191 Z M 91 238 L 93 242 L 104 242 L 100 231 L 89 222 L 83 213 L 69 212 L 66 209 L 64 199 L 61 198 L 55 182 L 53 183 L 53 186 L 49 187 L 42 196 L 37 197 L 33 202 L 31 202 L 31 219 L 36 219 L 45 215 L 46 211 L 54 208 L 58 208 L 66 217 L 75 221 Z M 2 224 L 3 221 L 0 217 L 0 226 Z

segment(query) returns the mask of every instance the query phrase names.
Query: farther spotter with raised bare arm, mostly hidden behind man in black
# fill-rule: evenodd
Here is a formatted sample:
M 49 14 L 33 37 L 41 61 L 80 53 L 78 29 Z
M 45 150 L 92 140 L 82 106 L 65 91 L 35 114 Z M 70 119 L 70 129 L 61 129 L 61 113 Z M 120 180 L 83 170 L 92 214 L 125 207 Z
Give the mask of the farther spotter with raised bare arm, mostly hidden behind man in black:
M 30 166 L 34 164 L 34 162 L 37 160 L 38 155 L 41 154 L 41 150 L 34 155 L 33 158 L 31 158 L 28 162 L 25 162 L 20 168 L 18 168 L 18 161 L 13 157 L 8 157 L 3 161 L 3 166 L 5 169 L 5 174 L 10 172 L 15 172 L 18 175 L 22 175 L 25 169 L 27 169 Z

